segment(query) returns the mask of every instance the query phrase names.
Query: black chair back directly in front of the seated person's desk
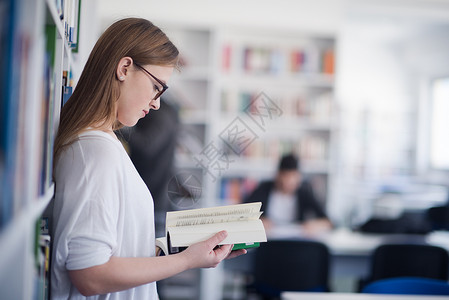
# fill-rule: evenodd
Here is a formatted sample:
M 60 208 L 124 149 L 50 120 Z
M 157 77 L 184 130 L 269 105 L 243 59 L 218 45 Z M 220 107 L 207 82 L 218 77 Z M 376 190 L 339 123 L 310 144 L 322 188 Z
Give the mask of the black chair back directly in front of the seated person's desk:
M 262 244 L 253 261 L 259 294 L 282 291 L 328 291 L 329 250 L 309 240 L 274 240 Z

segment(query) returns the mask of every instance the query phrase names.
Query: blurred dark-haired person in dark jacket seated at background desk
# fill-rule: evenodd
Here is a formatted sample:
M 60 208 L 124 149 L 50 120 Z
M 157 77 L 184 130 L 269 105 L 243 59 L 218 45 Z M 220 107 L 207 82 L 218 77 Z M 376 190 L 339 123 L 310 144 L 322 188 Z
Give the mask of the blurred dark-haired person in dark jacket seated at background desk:
M 281 158 L 274 180 L 261 182 L 245 202 L 262 202 L 261 219 L 267 230 L 299 224 L 305 234 L 313 235 L 332 228 L 311 184 L 302 180 L 298 158 L 292 154 Z

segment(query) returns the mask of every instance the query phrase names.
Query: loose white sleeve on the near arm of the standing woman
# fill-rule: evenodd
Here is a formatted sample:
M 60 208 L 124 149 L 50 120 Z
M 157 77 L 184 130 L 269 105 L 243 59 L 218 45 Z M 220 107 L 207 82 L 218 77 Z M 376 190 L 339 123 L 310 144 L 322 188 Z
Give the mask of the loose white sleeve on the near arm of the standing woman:
M 63 201 L 68 270 L 106 263 L 117 248 L 122 175 L 110 141 L 86 137 L 65 155 L 58 184 Z

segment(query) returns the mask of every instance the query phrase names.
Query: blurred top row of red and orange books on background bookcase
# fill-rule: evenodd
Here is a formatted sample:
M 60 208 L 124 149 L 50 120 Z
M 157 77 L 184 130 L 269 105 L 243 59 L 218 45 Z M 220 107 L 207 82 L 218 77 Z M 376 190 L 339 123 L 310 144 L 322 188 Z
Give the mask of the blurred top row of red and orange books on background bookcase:
M 276 46 L 236 48 L 230 45 L 223 46 L 223 71 L 230 71 L 236 66 L 239 70 L 252 74 L 334 74 L 335 54 L 332 48 L 323 49 L 318 46 L 291 49 Z M 233 59 L 238 59 L 237 57 L 241 57 L 242 61 L 233 64 Z

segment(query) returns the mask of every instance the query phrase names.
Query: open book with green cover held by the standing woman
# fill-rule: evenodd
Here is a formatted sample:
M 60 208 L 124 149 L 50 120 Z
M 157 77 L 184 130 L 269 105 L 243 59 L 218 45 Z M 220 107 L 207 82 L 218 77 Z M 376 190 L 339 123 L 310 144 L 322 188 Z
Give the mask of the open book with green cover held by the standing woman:
M 157 238 L 156 246 L 165 255 L 173 254 L 226 230 L 221 245 L 234 244 L 232 250 L 257 247 L 267 241 L 261 207 L 261 202 L 254 202 L 167 212 L 166 236 Z

